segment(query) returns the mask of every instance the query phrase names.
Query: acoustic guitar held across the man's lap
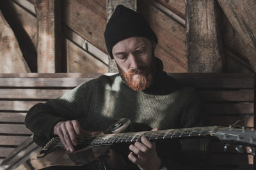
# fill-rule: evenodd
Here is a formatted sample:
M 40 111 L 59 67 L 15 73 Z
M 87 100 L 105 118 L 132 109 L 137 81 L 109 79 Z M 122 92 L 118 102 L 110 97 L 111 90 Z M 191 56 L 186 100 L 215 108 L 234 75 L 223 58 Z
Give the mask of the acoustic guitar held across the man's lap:
M 34 169 L 56 165 L 81 166 L 82 164 L 96 160 L 113 143 L 134 143 L 140 141 L 141 136 L 146 136 L 149 141 L 210 136 L 226 143 L 236 143 L 238 146 L 250 146 L 252 154 L 255 155 L 256 133 L 255 131 L 248 131 L 244 128 L 236 129 L 231 126 L 208 126 L 159 131 L 124 132 L 130 123 L 129 119 L 122 118 L 109 127 L 108 131 L 110 134 L 77 138 L 78 144 L 76 151 L 73 153 L 68 153 L 65 150 L 60 138 L 52 138 L 37 155 L 33 155 L 29 159 L 29 164 Z

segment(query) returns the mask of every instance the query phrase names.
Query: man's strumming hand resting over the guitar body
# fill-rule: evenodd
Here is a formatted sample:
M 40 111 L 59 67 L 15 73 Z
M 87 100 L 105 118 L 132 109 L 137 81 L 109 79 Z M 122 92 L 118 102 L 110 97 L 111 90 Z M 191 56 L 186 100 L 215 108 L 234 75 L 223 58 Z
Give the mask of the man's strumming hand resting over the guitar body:
M 103 134 L 103 132 L 84 131 L 77 120 L 68 120 L 58 122 L 53 128 L 54 135 L 58 135 L 61 142 L 68 152 L 74 152 L 74 146 L 77 145 L 77 136 L 93 136 L 95 134 Z

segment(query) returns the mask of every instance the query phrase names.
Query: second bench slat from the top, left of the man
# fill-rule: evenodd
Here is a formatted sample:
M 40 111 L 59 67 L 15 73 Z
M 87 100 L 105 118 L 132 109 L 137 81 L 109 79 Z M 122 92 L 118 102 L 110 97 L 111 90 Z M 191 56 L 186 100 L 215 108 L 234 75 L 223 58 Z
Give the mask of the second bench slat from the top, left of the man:
M 67 89 L 0 89 L 0 99 L 55 99 Z

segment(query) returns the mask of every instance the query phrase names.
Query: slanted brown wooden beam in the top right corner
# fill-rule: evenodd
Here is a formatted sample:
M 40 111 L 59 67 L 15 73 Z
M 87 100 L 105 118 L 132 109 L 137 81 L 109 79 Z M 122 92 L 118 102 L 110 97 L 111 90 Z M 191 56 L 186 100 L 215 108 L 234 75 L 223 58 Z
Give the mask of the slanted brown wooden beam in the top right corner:
M 232 27 L 241 36 L 246 57 L 256 71 L 256 1 L 218 0 Z

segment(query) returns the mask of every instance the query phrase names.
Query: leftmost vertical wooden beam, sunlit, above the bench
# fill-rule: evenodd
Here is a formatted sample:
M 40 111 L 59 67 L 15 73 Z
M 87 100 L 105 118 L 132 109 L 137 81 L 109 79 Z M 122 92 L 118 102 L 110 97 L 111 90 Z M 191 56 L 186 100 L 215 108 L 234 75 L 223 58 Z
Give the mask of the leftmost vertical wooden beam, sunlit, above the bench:
M 61 71 L 61 1 L 36 0 L 38 73 Z

